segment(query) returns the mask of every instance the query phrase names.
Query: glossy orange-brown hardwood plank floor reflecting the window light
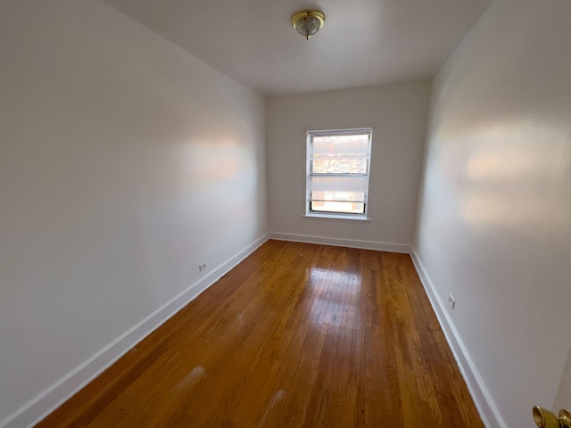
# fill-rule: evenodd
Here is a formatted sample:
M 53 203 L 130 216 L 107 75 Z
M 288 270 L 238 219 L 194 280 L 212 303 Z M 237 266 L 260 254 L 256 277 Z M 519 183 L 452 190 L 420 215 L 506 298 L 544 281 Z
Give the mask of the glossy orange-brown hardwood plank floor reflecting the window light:
M 483 427 L 410 257 L 269 241 L 38 427 Z

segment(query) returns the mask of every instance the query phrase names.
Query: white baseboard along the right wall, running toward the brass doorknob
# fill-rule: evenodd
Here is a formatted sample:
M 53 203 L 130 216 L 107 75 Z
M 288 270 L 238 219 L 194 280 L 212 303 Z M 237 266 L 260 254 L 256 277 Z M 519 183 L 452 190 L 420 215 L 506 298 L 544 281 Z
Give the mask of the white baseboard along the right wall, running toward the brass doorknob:
M 482 422 L 487 428 L 508 428 L 508 424 L 505 423 L 503 417 L 501 417 L 498 407 L 496 407 L 493 402 L 492 396 L 486 389 L 484 381 L 478 374 L 476 366 L 472 362 L 472 358 L 468 354 L 468 350 L 464 347 L 464 343 L 459 337 L 459 333 L 456 327 L 452 323 L 451 317 L 448 316 L 446 308 L 443 306 L 443 301 L 438 298 L 438 293 L 434 288 L 434 284 L 428 277 L 424 265 L 418 258 L 416 251 L 410 252 L 410 258 L 417 269 L 420 281 L 423 284 L 428 300 L 432 305 L 438 322 L 442 326 L 444 335 L 446 336 L 446 341 L 451 347 L 456 363 L 459 366 L 460 373 L 464 377 L 464 381 L 468 385 L 468 391 L 476 408 L 482 418 Z

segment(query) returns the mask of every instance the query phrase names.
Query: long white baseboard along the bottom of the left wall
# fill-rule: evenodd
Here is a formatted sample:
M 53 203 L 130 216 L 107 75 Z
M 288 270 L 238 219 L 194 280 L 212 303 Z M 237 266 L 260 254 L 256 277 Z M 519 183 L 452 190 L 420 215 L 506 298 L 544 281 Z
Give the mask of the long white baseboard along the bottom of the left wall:
M 153 314 L 145 317 L 140 323 L 123 333 L 118 339 L 97 352 L 93 357 L 88 358 L 60 381 L 54 383 L 35 399 L 31 399 L 19 410 L 5 418 L 4 421 L 0 422 L 0 428 L 21 428 L 37 424 L 53 412 L 55 408 L 60 407 L 63 402 L 70 399 L 73 394 L 86 386 L 87 383 L 90 383 L 97 375 L 111 366 L 138 342 L 141 342 L 146 336 L 153 333 L 156 328 L 175 315 L 178 310 L 184 308 L 191 300 L 194 300 L 201 292 L 210 287 L 211 284 L 218 281 L 221 276 L 226 275 L 229 270 L 252 254 L 268 239 L 268 234 L 261 236 L 243 251 L 240 251 L 218 268 L 212 270 L 208 276 L 204 276 L 200 281 L 192 284 L 167 304 L 155 310 Z

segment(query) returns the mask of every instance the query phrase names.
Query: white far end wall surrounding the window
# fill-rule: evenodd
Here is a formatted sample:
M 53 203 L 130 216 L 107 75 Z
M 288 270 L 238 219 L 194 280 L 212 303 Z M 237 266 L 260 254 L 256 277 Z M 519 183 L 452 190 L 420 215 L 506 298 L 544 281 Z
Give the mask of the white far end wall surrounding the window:
M 412 242 L 429 83 L 375 86 L 267 100 L 269 218 L 273 235 L 406 251 Z M 368 217 L 304 218 L 305 131 L 375 127 Z M 398 245 L 384 245 L 398 244 Z

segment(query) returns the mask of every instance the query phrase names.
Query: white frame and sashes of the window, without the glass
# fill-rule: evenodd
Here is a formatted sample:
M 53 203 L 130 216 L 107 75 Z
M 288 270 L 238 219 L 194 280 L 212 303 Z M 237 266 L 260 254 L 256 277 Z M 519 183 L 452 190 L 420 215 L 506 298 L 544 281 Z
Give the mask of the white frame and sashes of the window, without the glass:
M 330 211 L 319 211 L 311 210 L 311 190 L 310 181 L 311 177 L 316 175 L 325 176 L 326 174 L 314 174 L 312 171 L 312 159 L 313 159 L 313 137 L 314 136 L 343 136 L 343 135 L 353 135 L 353 134 L 368 134 L 368 157 L 367 157 L 367 173 L 366 174 L 355 174 L 361 177 L 367 177 L 367 191 L 364 197 L 364 212 L 362 213 L 349 213 L 349 212 L 330 212 Z M 307 131 L 306 133 L 306 177 L 305 177 L 305 217 L 310 218 L 343 218 L 352 220 L 367 220 L 368 219 L 368 188 L 369 188 L 369 177 L 370 177 L 370 160 L 371 160 L 371 148 L 373 146 L 373 128 L 348 128 L 348 129 L 327 129 L 327 130 L 314 130 Z M 327 174 L 328 177 L 343 177 L 344 174 Z

